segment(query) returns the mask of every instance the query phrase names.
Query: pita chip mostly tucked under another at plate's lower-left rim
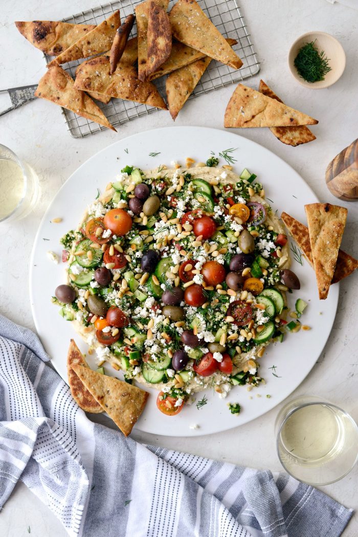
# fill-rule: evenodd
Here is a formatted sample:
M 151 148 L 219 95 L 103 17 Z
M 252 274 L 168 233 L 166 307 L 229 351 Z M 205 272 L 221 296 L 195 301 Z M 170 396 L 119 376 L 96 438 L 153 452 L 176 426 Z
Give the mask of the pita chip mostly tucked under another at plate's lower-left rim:
M 88 367 L 82 352 L 78 349 L 74 340 L 71 339 L 67 354 L 67 375 L 72 397 L 78 406 L 85 412 L 91 412 L 93 414 L 103 412 L 101 405 L 96 401 L 93 395 L 90 394 L 83 382 L 72 369 L 72 366 L 74 365 Z

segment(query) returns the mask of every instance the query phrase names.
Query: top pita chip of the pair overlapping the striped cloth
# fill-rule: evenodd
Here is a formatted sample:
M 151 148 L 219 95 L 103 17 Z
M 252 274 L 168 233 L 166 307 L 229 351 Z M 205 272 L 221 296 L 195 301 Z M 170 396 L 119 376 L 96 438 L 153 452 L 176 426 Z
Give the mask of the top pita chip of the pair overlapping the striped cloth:
M 73 369 L 108 416 L 128 436 L 144 410 L 148 392 L 81 365 L 74 365 Z

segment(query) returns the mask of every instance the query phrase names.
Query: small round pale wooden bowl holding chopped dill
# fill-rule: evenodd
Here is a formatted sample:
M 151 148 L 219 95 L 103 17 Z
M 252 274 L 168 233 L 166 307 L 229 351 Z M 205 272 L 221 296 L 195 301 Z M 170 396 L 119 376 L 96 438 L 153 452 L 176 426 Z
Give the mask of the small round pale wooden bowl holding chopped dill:
M 304 78 L 299 76 L 297 69 L 295 67 L 295 58 L 298 54 L 298 50 L 302 48 L 305 43 L 310 43 L 311 41 L 316 40 L 316 46 L 318 52 L 322 50 L 325 52 L 325 56 L 328 58 L 328 64 L 331 67 L 331 70 L 325 75 L 325 79 L 318 82 L 306 82 Z M 296 78 L 297 82 L 305 86 L 305 88 L 310 88 L 312 90 L 320 90 L 322 88 L 328 88 L 342 76 L 343 71 L 346 67 L 346 54 L 339 41 L 335 39 L 332 35 L 325 32 L 307 32 L 294 42 L 290 48 L 288 54 L 288 67 L 291 71 L 291 74 Z

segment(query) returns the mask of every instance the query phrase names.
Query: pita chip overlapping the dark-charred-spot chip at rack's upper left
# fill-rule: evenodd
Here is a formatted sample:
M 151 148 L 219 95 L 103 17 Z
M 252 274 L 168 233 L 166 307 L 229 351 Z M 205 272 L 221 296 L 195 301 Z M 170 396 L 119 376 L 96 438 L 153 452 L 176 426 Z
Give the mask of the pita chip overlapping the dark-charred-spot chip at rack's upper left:
M 78 39 L 73 45 L 64 50 L 47 67 L 72 62 L 110 50 L 115 32 L 120 24 L 121 18 L 118 10 L 91 30 L 91 32 L 88 32 L 84 37 Z

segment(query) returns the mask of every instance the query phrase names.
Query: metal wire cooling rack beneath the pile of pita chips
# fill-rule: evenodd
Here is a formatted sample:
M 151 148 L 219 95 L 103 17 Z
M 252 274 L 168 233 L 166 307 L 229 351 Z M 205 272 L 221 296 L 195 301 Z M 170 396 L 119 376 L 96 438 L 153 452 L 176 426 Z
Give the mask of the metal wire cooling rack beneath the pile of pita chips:
M 101 5 L 98 8 L 89 9 L 77 13 L 76 15 L 72 15 L 71 17 L 63 19 L 63 22 L 72 24 L 100 24 L 111 13 L 118 9 L 120 10 L 121 19 L 123 21 L 130 13 L 134 12 L 134 6 L 141 1 L 142 0 L 117 0 L 109 4 Z M 169 10 L 173 4 L 174 1 L 171 0 Z M 250 33 L 240 12 L 237 1 L 199 0 L 199 5 L 225 37 L 236 39 L 238 41 L 237 45 L 233 46 L 233 49 L 242 59 L 244 64 L 241 69 L 235 71 L 220 62 L 212 61 L 209 64 L 208 69 L 204 72 L 204 75 L 193 91 L 191 97 L 189 97 L 191 99 L 199 97 L 199 95 L 202 95 L 203 93 L 209 93 L 210 91 L 224 88 L 230 84 L 235 84 L 245 78 L 250 78 L 256 75 L 260 70 L 260 64 L 250 39 Z M 136 34 L 136 25 L 134 25 L 130 37 L 135 37 Z M 45 60 L 46 63 L 48 63 L 50 61 L 50 56 L 45 55 Z M 82 61 L 83 60 L 65 63 L 62 67 L 75 78 L 75 70 Z M 158 78 L 153 83 L 157 86 L 159 93 L 164 97 L 165 77 Z M 108 104 L 99 103 L 97 101 L 97 104 L 114 127 L 157 111 L 157 108 L 122 99 L 111 99 Z M 105 129 L 105 127 L 78 116 L 65 108 L 62 108 L 62 113 L 69 133 L 75 138 L 83 138 L 84 136 L 95 134 Z M 165 113 L 165 111 L 160 111 L 160 113 Z

